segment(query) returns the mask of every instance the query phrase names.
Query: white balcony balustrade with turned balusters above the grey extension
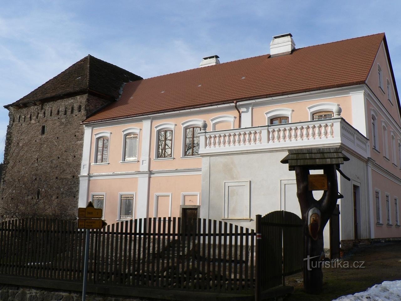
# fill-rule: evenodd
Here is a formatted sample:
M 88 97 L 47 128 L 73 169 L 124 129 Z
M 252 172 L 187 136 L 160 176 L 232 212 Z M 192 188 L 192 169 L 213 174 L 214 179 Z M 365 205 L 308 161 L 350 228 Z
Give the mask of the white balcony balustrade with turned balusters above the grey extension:
M 199 135 L 201 156 L 343 145 L 362 157 L 370 157 L 369 140 L 343 118 L 206 131 Z

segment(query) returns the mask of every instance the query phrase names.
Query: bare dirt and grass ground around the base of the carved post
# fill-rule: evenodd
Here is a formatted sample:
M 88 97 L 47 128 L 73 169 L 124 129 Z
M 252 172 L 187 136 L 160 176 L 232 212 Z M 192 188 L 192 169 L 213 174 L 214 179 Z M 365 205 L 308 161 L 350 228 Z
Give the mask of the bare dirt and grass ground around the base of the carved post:
M 365 261 L 365 268 L 323 268 L 323 292 L 320 295 L 304 292 L 302 273 L 286 277 L 286 284 L 294 286 L 294 293 L 284 301 L 331 301 L 365 291 L 383 281 L 401 279 L 401 243 L 360 246 L 341 260 L 348 261 L 350 266 L 354 261 Z

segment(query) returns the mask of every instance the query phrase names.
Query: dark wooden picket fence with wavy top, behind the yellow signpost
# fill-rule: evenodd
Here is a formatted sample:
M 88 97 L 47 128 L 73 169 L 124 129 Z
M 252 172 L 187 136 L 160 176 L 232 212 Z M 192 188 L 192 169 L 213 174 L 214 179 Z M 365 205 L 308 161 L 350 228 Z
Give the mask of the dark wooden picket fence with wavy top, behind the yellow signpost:
M 254 230 L 216 220 L 145 218 L 90 231 L 88 283 L 252 294 Z M 85 231 L 76 222 L 0 223 L 0 274 L 83 280 Z

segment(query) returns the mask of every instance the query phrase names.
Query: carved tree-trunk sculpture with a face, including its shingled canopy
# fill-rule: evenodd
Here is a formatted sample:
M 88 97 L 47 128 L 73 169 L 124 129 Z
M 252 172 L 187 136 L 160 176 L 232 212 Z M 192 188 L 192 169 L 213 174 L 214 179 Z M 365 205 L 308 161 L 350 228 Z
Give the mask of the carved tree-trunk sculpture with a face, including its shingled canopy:
M 289 169 L 295 170 L 296 175 L 297 197 L 304 222 L 304 258 L 309 258 L 304 261 L 304 289 L 307 293 L 316 294 L 322 290 L 323 229 L 337 200 L 342 198 L 338 193 L 337 170 L 339 164 L 348 160 L 341 148 L 319 148 L 290 150 L 289 155 L 281 161 L 288 163 Z M 327 177 L 327 188 L 319 200 L 313 197 L 308 181 L 311 169 L 323 169 Z M 342 172 L 340 174 L 344 175 Z

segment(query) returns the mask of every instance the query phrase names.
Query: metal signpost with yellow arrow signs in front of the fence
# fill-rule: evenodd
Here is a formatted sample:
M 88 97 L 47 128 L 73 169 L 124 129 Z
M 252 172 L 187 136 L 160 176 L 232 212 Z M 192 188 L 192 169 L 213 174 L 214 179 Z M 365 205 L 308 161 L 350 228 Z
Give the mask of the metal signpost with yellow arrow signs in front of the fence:
M 103 209 L 95 208 L 93 203 L 89 201 L 88 205 L 78 208 L 78 228 L 86 229 L 85 231 L 85 257 L 83 265 L 83 284 L 82 284 L 82 301 L 86 299 L 86 283 L 88 279 L 88 261 L 89 261 L 89 235 L 90 229 L 101 229 L 107 226 L 102 219 Z

